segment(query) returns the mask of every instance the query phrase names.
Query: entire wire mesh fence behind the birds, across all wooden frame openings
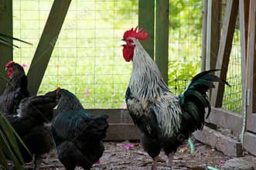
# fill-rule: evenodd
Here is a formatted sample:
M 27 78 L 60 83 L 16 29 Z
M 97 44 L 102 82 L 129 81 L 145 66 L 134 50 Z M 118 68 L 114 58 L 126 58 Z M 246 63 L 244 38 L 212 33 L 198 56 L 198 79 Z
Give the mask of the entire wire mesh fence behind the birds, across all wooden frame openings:
M 33 43 L 18 44 L 22 49 L 14 51 L 16 62 L 29 66 L 52 3 L 13 0 L 14 36 Z M 203 2 L 170 0 L 169 9 L 169 87 L 179 94 L 200 72 Z M 125 107 L 131 63 L 122 59 L 120 39 L 126 29 L 137 25 L 138 0 L 73 0 L 39 93 L 63 87 L 87 108 Z M 241 108 L 238 34 L 227 77 L 232 87 L 224 96 L 224 108 L 237 112 Z

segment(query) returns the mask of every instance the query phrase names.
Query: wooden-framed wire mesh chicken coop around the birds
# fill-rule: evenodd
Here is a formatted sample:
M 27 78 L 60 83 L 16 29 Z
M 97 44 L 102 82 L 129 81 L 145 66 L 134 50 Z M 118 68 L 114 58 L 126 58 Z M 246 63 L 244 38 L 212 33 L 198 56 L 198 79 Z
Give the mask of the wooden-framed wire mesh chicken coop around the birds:
M 131 63 L 120 40 L 143 27 L 142 46 L 177 96 L 201 70 L 220 69 L 230 83 L 210 91 L 210 117 L 194 138 L 225 155 L 256 155 L 255 10 L 254 0 L 0 0 L 0 32 L 32 43 L 0 44 L 0 93 L 14 60 L 33 95 L 68 89 L 90 113 L 109 115 L 107 141 L 139 141 L 125 104 Z

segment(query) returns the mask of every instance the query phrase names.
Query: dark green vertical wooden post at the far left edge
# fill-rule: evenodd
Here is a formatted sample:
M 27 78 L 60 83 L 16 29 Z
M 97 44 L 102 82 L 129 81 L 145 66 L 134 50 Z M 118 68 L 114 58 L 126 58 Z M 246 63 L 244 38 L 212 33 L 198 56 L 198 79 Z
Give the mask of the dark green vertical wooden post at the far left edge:
M 12 1 L 0 0 L 0 32 L 12 36 Z M 10 40 L 12 42 L 12 40 Z M 12 48 L 0 45 L 0 94 L 5 90 L 8 76 L 5 64 L 12 60 Z

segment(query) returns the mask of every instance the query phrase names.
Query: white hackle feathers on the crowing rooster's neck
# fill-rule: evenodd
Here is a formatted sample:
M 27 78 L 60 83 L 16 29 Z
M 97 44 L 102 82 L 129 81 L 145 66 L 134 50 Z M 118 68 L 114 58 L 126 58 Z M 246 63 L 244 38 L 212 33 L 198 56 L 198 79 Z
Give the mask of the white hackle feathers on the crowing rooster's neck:
M 169 91 L 159 68 L 137 39 L 133 56 L 133 70 L 129 87 L 139 98 L 156 99 L 162 92 Z

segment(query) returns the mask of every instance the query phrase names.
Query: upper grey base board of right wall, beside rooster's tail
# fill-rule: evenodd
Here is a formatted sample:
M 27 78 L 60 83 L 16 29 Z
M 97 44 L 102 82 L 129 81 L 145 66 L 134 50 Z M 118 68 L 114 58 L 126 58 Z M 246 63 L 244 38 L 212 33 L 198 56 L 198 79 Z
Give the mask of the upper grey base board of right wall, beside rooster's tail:
M 215 107 L 212 107 L 212 111 L 206 122 L 215 124 L 220 128 L 227 128 L 237 136 L 241 134 L 243 127 L 243 117 L 241 114 Z

